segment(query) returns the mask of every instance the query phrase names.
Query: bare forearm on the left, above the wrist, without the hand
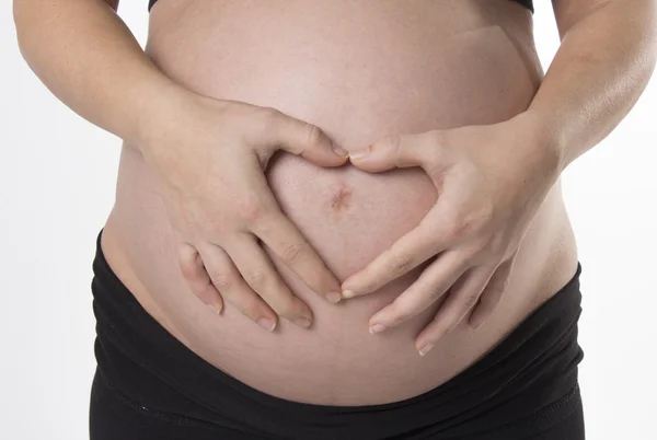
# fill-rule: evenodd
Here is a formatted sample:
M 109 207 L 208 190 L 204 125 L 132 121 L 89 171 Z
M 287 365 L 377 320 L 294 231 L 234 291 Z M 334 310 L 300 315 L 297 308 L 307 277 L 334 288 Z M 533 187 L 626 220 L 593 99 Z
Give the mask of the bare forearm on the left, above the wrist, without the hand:
M 138 143 L 174 85 L 102 0 L 15 0 L 21 53 L 80 116 Z

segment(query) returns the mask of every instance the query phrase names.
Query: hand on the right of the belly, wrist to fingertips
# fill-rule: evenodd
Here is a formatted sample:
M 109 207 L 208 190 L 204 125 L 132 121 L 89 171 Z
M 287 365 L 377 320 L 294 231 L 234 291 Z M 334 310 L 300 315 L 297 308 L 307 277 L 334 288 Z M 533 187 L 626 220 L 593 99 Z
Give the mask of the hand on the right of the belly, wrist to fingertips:
M 504 293 L 514 258 L 539 206 L 558 176 L 558 160 L 529 116 L 506 123 L 382 139 L 351 162 L 368 172 L 420 166 L 438 189 L 417 228 L 343 282 L 343 297 L 372 292 L 437 256 L 419 278 L 369 322 L 377 333 L 447 294 L 416 338 L 425 355 L 474 309 L 477 328 Z

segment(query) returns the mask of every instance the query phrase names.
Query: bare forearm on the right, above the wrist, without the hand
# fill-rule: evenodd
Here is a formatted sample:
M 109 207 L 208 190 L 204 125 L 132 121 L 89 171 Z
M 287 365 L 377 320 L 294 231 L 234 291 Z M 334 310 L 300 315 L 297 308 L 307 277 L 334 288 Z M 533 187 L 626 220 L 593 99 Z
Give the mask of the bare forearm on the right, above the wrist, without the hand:
M 607 137 L 638 100 L 655 66 L 655 16 L 653 0 L 610 0 L 567 31 L 567 21 L 560 23 L 561 48 L 527 112 L 555 148 L 560 171 Z

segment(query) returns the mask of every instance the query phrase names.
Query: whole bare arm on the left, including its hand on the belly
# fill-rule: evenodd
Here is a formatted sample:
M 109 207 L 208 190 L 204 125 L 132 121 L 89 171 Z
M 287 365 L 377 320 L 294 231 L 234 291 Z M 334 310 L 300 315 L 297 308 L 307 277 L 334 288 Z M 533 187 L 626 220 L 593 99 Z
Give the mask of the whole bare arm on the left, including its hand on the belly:
M 278 149 L 321 166 L 343 164 L 346 151 L 275 109 L 174 83 L 116 15 L 117 4 L 14 0 L 23 57 L 65 104 L 141 152 L 159 178 L 182 273 L 204 303 L 220 312 L 226 299 L 269 331 L 277 316 L 308 327 L 310 309 L 261 242 L 328 300 L 339 300 L 338 282 L 283 215 L 263 170 Z

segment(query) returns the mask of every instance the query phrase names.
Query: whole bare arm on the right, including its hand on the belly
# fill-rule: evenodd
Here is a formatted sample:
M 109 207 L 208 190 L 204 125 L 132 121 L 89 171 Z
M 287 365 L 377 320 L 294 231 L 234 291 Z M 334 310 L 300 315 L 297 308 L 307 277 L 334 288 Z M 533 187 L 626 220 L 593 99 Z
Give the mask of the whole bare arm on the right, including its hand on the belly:
M 371 172 L 420 166 L 439 194 L 417 228 L 343 282 L 346 298 L 370 293 L 440 254 L 370 319 L 372 333 L 417 315 L 443 294 L 436 317 L 416 338 L 420 355 L 471 311 L 470 324 L 483 325 L 550 188 L 619 124 L 646 86 L 656 59 L 654 0 L 553 3 L 563 43 L 526 112 L 499 124 L 389 137 L 351 155 Z

